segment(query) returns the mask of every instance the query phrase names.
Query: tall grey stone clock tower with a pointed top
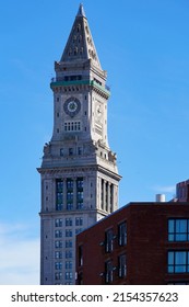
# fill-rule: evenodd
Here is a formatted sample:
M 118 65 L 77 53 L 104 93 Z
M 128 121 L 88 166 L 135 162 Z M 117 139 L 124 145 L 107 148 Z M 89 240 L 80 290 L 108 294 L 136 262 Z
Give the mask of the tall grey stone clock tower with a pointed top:
M 40 284 L 74 284 L 75 235 L 117 209 L 120 180 L 107 137 L 107 73 L 82 4 L 55 71 L 54 132 L 38 169 Z

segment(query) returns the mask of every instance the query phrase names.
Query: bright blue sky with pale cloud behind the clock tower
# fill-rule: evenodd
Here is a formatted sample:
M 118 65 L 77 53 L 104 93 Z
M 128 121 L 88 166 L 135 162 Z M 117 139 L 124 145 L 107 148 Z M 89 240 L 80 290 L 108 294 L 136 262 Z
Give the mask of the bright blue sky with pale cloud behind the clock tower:
M 111 88 L 109 145 L 120 206 L 166 200 L 189 178 L 189 1 L 83 0 Z M 52 132 L 50 78 L 80 2 L 7 0 L 0 49 L 0 284 L 38 284 L 40 166 Z

